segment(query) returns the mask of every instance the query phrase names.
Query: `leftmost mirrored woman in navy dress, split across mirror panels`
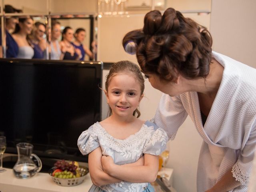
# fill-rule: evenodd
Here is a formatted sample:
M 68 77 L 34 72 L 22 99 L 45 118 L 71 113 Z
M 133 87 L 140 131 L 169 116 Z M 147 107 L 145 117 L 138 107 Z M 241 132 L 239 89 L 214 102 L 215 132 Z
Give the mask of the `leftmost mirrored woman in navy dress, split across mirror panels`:
M 11 5 L 4 6 L 5 13 L 20 13 L 19 9 L 14 8 Z M 6 58 L 16 58 L 18 55 L 19 47 L 16 41 L 12 38 L 11 33 L 14 31 L 16 24 L 19 22 L 18 17 L 12 16 L 6 18 Z M 0 58 L 2 58 L 2 33 L 0 31 Z

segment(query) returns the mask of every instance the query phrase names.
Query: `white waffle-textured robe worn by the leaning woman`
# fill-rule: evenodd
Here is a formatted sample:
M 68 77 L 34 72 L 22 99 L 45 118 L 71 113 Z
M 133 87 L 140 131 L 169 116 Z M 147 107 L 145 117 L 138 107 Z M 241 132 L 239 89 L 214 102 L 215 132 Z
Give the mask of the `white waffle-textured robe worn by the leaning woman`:
M 171 97 L 163 94 L 154 116 L 173 140 L 187 115 L 203 143 L 197 170 L 197 191 L 210 189 L 232 168 L 242 185 L 230 192 L 246 192 L 256 144 L 256 69 L 212 52 L 224 66 L 220 88 L 202 125 L 197 92 Z

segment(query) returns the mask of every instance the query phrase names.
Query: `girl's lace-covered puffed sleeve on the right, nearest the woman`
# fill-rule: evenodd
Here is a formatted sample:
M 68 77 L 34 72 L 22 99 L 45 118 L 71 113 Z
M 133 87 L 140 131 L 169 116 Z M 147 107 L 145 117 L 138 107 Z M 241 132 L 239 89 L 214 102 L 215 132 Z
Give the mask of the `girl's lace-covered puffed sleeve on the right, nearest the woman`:
M 166 150 L 167 141 L 168 136 L 166 132 L 155 125 L 152 130 L 152 136 L 146 140 L 142 153 L 160 155 L 164 150 Z

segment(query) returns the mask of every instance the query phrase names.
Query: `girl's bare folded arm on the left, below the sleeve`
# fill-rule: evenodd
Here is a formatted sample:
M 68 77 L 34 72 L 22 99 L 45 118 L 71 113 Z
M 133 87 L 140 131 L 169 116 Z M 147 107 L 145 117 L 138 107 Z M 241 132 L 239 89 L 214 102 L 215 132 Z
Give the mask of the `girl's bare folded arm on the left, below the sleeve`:
M 107 185 L 121 181 L 106 174 L 101 165 L 102 150 L 100 147 L 96 148 L 89 154 L 88 164 L 92 183 L 96 186 Z

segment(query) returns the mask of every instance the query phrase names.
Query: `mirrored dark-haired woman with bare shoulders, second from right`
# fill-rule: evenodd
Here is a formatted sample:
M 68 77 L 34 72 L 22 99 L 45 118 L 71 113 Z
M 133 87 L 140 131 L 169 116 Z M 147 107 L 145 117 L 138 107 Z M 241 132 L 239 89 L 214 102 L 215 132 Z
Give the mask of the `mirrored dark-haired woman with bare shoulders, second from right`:
M 81 51 L 76 49 L 71 43 L 74 32 L 71 27 L 65 27 L 62 32 L 62 41 L 60 42 L 60 49 L 64 53 L 64 60 L 79 60 L 82 57 Z

